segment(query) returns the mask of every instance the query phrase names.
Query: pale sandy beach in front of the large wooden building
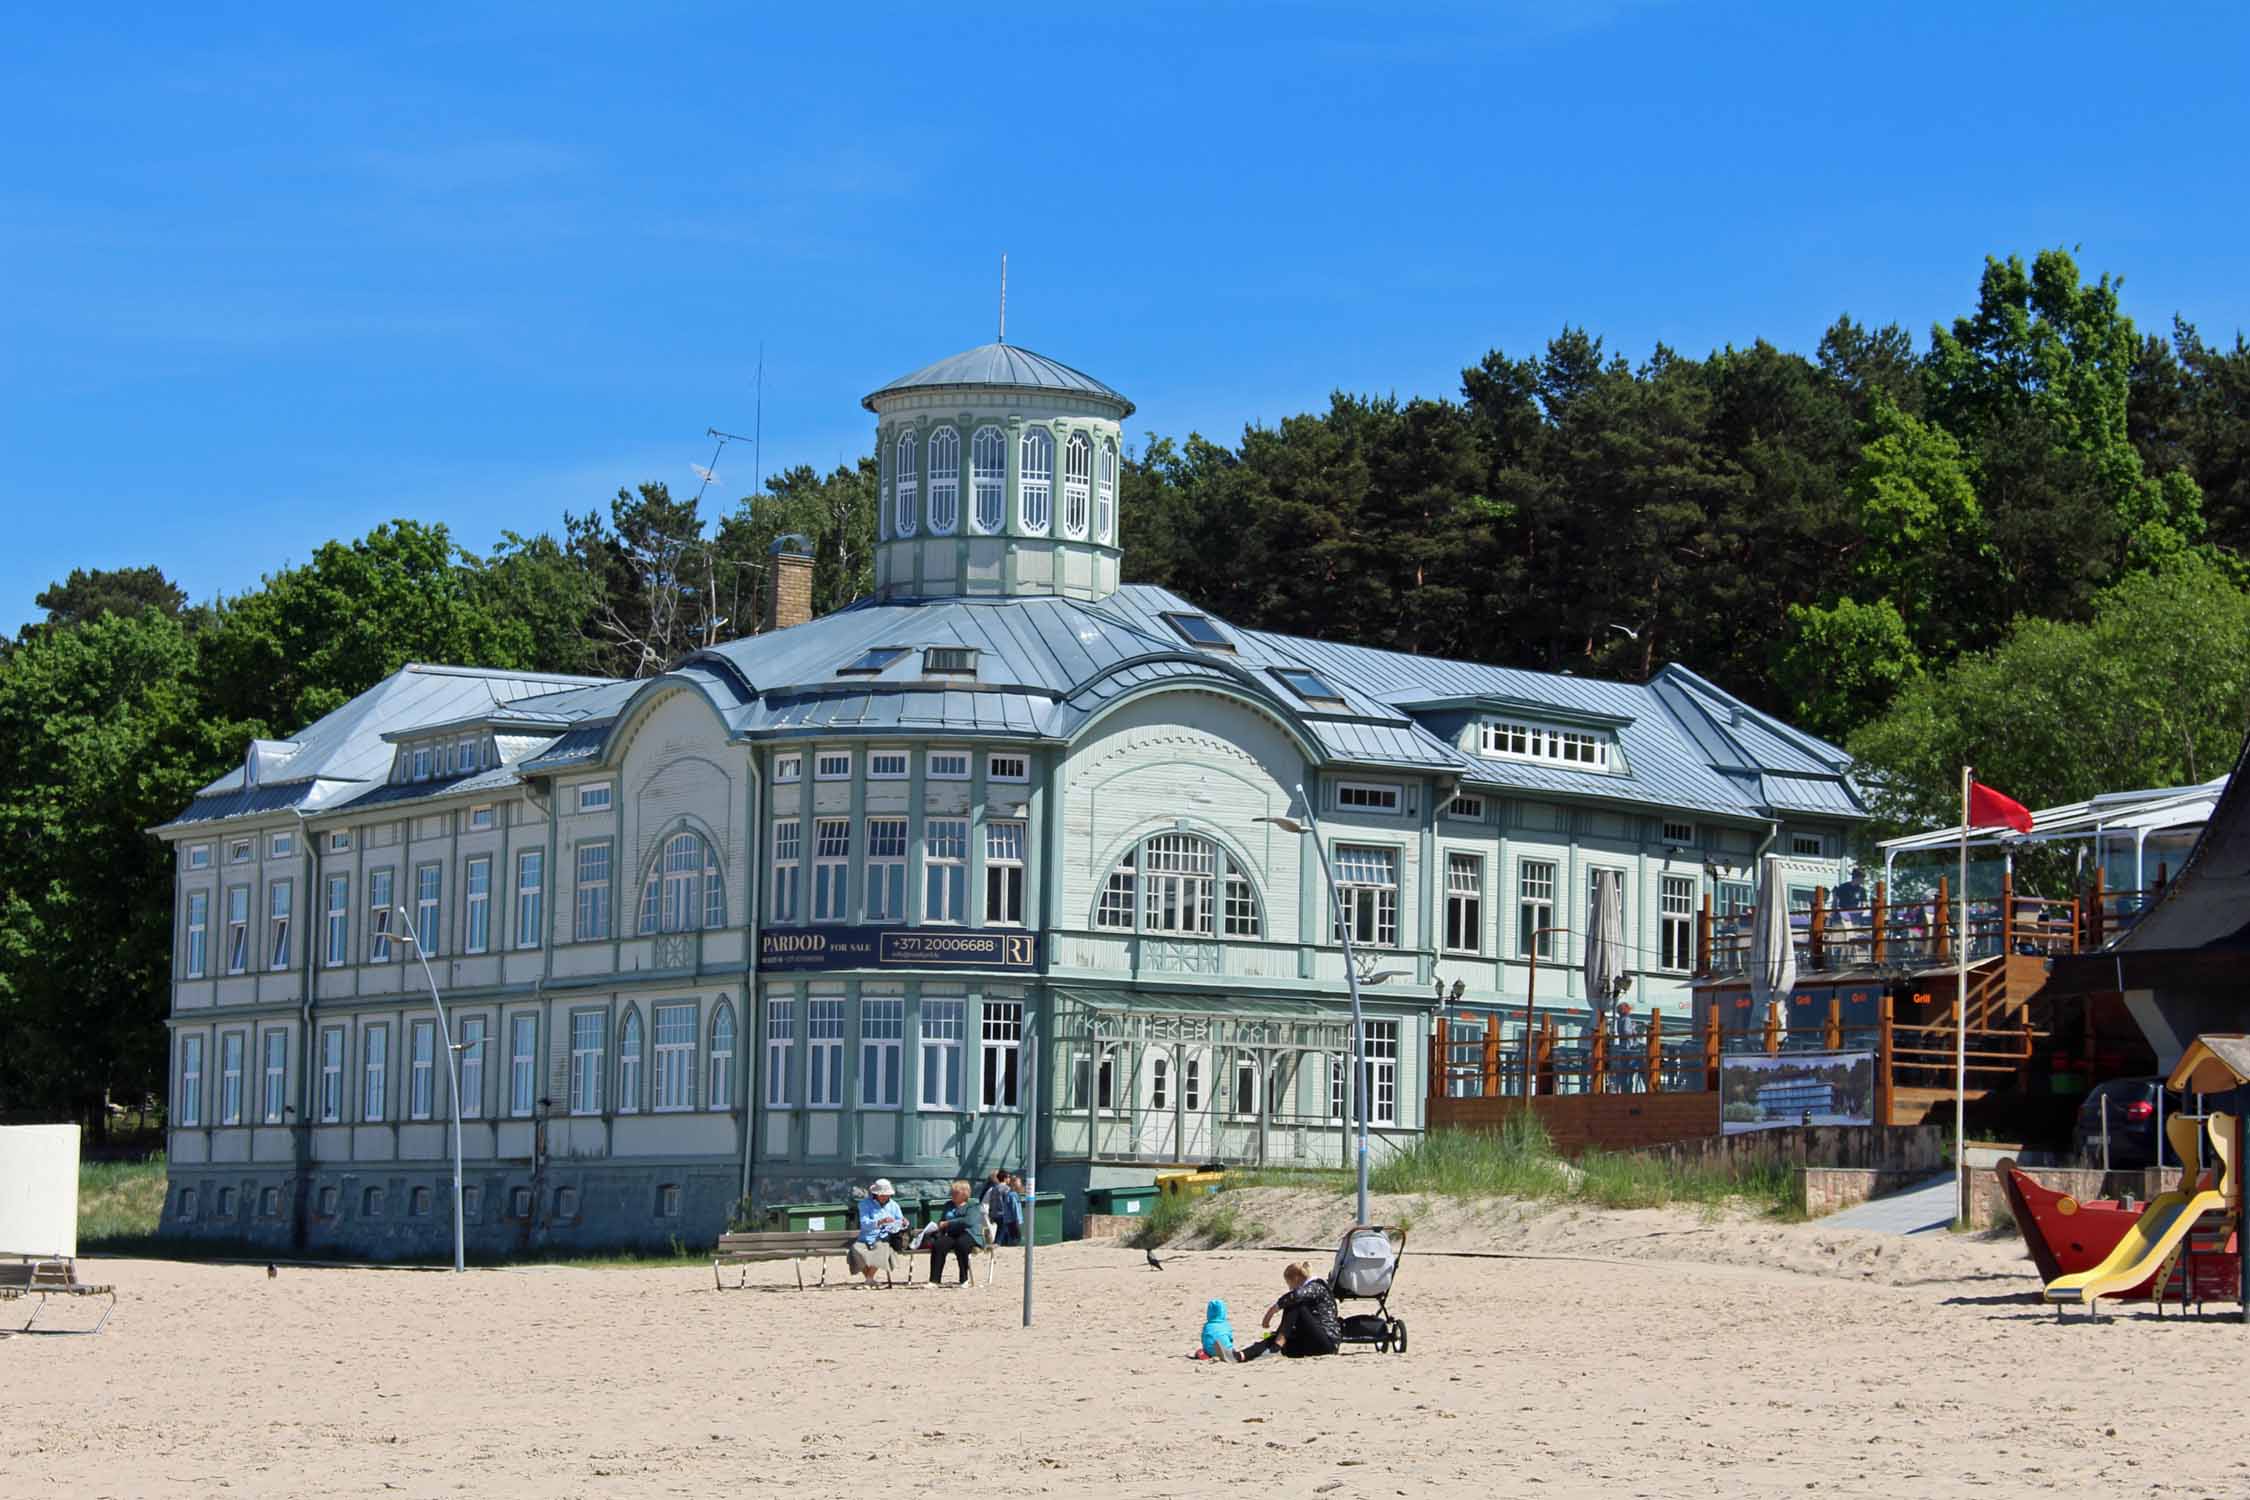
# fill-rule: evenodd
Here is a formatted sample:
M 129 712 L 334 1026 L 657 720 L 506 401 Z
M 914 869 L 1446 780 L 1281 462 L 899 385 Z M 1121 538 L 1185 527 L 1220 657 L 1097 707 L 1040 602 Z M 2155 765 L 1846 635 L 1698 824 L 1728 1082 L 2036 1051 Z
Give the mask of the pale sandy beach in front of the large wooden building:
M 1271 1241 L 1332 1239 L 1336 1199 L 1260 1199 Z M 1422 1214 L 1393 1302 L 1413 1352 L 1249 1367 L 1188 1354 L 1206 1298 L 1256 1327 L 1282 1250 L 1181 1248 L 1161 1273 L 1114 1244 L 1042 1250 L 1028 1331 L 1019 1253 L 990 1291 L 808 1293 L 788 1266 L 720 1293 L 677 1266 L 88 1262 L 122 1293 L 106 1334 L 0 1340 L 0 1489 L 2250 1491 L 2228 1417 L 2250 1334 L 2056 1325 L 2009 1239 L 1386 1208 Z

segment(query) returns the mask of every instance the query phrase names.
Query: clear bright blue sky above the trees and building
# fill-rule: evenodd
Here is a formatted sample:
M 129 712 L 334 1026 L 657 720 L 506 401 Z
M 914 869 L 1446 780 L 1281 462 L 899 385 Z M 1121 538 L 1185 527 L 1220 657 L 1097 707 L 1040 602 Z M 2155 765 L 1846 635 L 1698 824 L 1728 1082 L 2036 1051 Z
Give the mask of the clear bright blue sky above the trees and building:
M 767 472 L 832 466 L 992 337 L 1001 252 L 1010 340 L 1174 436 L 1566 322 L 1919 335 L 2059 243 L 2142 326 L 2250 328 L 2234 7 L 880 9 L 18 11 L 0 627 L 72 567 L 209 598 L 693 490 L 760 340 Z

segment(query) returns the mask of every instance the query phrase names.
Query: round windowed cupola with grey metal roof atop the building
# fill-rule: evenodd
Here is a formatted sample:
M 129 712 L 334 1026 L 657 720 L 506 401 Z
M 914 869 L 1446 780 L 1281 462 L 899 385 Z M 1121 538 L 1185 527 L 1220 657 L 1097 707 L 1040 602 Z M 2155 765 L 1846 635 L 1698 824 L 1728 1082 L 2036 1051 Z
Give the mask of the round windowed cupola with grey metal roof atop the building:
M 981 344 L 862 400 L 882 504 L 875 596 L 1118 587 L 1120 423 L 1132 403 L 1017 344 Z

